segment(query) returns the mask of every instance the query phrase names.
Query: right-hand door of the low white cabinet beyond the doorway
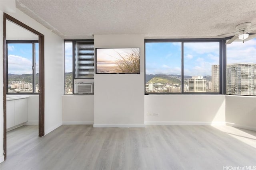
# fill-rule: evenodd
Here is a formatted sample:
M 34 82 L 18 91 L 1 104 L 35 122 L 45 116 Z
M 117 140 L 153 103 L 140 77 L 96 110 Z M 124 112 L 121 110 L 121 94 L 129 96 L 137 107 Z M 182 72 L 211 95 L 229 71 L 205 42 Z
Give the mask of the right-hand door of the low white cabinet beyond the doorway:
M 14 124 L 28 121 L 28 99 L 19 99 L 14 102 Z

